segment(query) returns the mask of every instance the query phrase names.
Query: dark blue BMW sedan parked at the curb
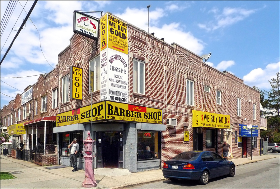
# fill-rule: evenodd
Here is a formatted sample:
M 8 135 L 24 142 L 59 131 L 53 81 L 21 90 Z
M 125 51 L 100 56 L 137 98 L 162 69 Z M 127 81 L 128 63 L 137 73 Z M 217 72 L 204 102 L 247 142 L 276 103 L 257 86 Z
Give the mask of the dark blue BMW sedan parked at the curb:
M 178 179 L 198 180 L 207 184 L 210 178 L 235 175 L 235 164 L 212 151 L 187 151 L 163 164 L 163 176 L 175 182 Z

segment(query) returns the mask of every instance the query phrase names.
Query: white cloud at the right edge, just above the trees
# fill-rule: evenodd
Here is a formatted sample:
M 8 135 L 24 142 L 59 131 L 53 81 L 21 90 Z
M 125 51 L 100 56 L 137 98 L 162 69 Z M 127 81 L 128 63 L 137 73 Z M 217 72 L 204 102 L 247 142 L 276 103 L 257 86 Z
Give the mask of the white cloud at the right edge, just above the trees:
M 243 77 L 244 83 L 249 86 L 257 86 L 261 90 L 269 90 L 271 85 L 268 81 L 276 79 L 279 72 L 280 62 L 270 63 L 264 69 L 256 68 Z

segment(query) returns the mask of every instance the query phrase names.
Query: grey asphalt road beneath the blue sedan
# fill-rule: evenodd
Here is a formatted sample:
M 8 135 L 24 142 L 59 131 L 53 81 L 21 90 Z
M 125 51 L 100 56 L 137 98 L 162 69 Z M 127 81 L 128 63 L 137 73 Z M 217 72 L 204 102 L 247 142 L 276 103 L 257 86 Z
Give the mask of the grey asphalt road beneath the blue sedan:
M 280 158 L 273 158 L 236 166 L 234 177 L 210 179 L 206 185 L 199 185 L 196 181 L 172 182 L 168 179 L 130 188 L 280 188 L 279 170 Z

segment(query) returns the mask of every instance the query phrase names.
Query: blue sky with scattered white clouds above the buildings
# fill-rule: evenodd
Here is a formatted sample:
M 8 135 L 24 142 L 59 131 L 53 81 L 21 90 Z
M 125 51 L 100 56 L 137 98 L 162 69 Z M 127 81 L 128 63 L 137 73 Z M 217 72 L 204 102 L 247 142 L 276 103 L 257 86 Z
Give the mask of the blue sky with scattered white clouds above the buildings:
M 33 2 L 17 2 L 6 25 L 3 17 L 9 1 L 1 1 L 1 60 Z M 39 78 L 34 75 L 48 73 L 58 63 L 58 54 L 73 35 L 74 10 L 111 12 L 148 31 L 148 5 L 149 33 L 200 56 L 211 52 L 206 63 L 212 67 L 233 73 L 246 85 L 269 90 L 268 80 L 276 78 L 280 65 L 279 2 L 38 1 L 1 64 L 1 108 L 33 85 Z

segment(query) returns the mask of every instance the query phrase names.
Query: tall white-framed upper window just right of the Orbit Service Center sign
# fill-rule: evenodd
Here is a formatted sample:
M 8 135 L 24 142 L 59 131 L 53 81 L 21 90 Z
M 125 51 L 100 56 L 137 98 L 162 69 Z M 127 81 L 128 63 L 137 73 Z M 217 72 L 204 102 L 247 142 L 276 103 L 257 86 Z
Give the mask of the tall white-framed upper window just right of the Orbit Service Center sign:
M 133 92 L 145 94 L 145 62 L 133 60 Z

